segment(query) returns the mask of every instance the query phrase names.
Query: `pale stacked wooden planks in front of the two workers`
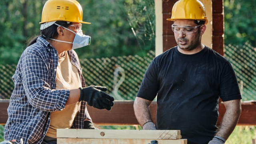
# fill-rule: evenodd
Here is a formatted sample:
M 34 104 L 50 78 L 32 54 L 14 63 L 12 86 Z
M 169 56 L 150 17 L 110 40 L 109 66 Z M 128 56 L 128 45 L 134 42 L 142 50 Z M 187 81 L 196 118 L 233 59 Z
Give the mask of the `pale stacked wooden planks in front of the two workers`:
M 180 130 L 57 129 L 57 144 L 187 144 Z

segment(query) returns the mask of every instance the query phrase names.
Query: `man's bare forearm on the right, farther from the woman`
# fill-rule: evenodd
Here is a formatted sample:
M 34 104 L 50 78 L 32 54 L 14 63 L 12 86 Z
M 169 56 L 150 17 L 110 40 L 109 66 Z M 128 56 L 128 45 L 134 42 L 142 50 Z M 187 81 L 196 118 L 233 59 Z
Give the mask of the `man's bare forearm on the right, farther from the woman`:
M 227 140 L 236 127 L 241 114 L 241 102 L 240 100 L 230 100 L 224 102 L 224 106 L 226 107 L 226 112 L 222 118 L 216 136 L 220 136 Z

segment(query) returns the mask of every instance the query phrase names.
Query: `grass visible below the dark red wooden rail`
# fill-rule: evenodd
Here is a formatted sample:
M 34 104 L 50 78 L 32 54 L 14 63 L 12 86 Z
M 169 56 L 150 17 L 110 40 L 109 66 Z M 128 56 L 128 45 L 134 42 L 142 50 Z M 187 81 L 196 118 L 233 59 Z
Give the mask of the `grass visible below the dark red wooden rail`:
M 103 129 L 136 130 L 136 126 L 100 126 Z M 138 129 L 142 128 L 138 126 Z M 4 140 L 4 125 L 0 125 L 0 142 Z M 236 126 L 225 144 L 252 144 L 256 139 L 256 126 Z

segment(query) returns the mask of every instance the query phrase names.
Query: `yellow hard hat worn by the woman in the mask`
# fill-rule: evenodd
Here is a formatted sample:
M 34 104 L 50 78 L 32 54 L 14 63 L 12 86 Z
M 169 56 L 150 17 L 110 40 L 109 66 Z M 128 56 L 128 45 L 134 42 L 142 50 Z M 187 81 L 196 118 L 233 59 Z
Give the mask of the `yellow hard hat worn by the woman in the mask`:
M 48 0 L 44 4 L 42 20 L 39 24 L 52 21 L 83 22 L 83 10 L 76 0 Z

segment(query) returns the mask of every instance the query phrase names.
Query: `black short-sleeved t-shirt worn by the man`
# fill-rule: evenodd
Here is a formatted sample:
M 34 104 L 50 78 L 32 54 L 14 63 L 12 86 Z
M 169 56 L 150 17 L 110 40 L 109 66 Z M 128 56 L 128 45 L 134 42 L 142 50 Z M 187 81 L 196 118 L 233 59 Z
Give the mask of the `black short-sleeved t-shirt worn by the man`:
M 188 144 L 208 144 L 216 134 L 219 97 L 242 99 L 230 62 L 206 46 L 190 55 L 174 47 L 154 58 L 137 97 L 156 95 L 156 129 L 180 130 Z

